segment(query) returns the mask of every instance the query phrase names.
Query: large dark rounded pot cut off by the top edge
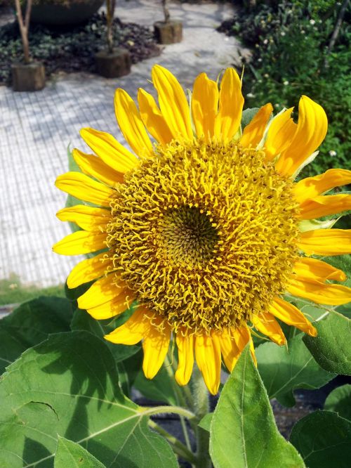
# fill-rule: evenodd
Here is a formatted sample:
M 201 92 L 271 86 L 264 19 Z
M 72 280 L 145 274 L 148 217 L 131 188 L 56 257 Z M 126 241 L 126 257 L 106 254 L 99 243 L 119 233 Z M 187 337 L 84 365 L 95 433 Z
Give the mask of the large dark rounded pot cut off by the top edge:
M 103 0 L 67 0 L 61 4 L 41 0 L 32 6 L 30 20 L 48 26 L 78 25 L 91 18 L 102 4 Z

